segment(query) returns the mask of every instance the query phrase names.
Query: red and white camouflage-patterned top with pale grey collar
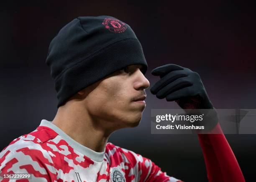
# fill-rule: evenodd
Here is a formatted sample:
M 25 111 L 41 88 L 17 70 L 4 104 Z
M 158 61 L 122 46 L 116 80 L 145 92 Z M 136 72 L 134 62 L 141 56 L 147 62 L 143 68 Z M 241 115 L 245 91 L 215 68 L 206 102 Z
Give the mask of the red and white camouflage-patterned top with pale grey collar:
M 3 182 L 181 182 L 150 159 L 108 142 L 95 152 L 43 119 L 29 134 L 14 139 L 0 153 L 0 176 L 31 174 Z

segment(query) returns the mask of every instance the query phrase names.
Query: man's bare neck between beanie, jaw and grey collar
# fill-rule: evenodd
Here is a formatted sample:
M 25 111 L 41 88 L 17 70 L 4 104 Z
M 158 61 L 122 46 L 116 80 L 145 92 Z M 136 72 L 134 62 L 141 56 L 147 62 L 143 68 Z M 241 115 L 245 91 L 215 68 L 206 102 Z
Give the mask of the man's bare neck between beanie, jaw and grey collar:
M 52 123 L 79 144 L 95 152 L 104 152 L 105 145 L 112 133 L 93 121 L 86 109 L 72 102 L 59 107 Z

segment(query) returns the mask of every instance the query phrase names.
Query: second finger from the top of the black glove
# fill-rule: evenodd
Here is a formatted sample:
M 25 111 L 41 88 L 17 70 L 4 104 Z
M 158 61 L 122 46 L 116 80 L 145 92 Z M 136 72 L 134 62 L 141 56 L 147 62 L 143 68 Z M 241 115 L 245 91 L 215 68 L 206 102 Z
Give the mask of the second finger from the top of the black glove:
M 178 78 L 186 77 L 187 73 L 184 70 L 177 70 L 172 71 L 157 81 L 151 88 L 150 91 L 152 94 L 156 94 L 159 90 L 164 88 L 164 86 L 172 83 L 173 81 L 177 80 Z

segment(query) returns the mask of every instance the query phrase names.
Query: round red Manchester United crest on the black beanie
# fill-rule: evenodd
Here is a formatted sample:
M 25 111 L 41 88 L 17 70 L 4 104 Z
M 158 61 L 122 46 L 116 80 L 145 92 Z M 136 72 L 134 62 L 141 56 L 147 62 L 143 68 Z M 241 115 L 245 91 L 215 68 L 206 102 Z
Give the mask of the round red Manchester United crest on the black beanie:
M 105 25 L 105 28 L 115 33 L 122 33 L 126 30 L 127 26 L 125 23 L 121 22 L 118 19 L 114 18 L 105 18 L 102 25 Z

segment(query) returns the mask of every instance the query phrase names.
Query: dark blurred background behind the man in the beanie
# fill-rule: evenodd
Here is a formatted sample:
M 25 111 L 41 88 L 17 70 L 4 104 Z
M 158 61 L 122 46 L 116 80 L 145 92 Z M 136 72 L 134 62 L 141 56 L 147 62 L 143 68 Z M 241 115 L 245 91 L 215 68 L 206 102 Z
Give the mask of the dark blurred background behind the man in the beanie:
M 217 109 L 256 108 L 256 9 L 246 1 L 5 1 L 0 19 L 0 151 L 57 111 L 45 60 L 52 38 L 78 16 L 110 15 L 133 28 L 150 71 L 174 63 L 197 71 Z M 146 90 L 146 109 L 136 128 L 109 142 L 150 158 L 170 176 L 205 182 L 196 135 L 151 134 L 151 109 L 178 108 Z M 246 181 L 255 181 L 256 135 L 226 135 Z

